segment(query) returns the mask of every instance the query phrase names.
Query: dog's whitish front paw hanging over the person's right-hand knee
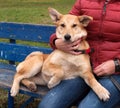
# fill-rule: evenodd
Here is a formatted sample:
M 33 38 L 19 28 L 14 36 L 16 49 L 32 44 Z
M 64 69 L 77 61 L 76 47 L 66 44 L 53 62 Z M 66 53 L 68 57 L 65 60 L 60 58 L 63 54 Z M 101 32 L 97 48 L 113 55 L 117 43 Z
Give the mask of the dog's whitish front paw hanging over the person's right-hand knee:
M 101 100 L 103 101 L 108 101 L 110 98 L 110 93 L 107 89 L 105 89 L 104 87 L 99 88 L 99 93 L 98 96 Z

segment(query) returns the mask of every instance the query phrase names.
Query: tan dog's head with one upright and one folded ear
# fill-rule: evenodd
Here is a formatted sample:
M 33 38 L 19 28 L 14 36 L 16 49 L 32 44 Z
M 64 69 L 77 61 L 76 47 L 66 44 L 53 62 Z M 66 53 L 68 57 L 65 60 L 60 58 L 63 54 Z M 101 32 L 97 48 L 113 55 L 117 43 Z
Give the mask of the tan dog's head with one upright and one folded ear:
M 56 24 L 56 36 L 64 41 L 75 41 L 81 37 L 86 37 L 86 27 L 93 19 L 90 16 L 63 15 L 53 8 L 49 8 L 49 15 Z

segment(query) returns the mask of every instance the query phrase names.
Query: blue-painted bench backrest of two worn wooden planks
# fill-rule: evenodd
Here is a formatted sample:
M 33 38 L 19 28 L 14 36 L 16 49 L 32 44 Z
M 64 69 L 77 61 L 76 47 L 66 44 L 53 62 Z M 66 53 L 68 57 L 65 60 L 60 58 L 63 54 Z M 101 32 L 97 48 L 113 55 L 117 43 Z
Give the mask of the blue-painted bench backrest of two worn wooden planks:
M 54 32 L 55 26 L 50 25 L 1 22 L 0 59 L 8 60 L 14 64 L 24 60 L 33 51 L 50 53 L 51 48 L 39 46 L 39 43 L 49 43 L 49 37 Z M 24 41 L 27 44 L 23 44 Z M 38 46 L 34 45 L 36 43 Z

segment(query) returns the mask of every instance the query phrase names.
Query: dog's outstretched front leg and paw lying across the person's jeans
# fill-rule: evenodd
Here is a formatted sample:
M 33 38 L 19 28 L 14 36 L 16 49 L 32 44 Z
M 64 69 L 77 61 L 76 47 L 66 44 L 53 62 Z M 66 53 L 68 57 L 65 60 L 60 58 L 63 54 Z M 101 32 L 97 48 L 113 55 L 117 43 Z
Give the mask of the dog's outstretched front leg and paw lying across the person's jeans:
M 94 75 L 88 71 L 84 72 L 82 75 L 85 82 L 93 89 L 93 91 L 97 94 L 97 96 L 103 100 L 107 101 L 110 97 L 110 93 L 107 89 L 105 89 L 94 77 Z

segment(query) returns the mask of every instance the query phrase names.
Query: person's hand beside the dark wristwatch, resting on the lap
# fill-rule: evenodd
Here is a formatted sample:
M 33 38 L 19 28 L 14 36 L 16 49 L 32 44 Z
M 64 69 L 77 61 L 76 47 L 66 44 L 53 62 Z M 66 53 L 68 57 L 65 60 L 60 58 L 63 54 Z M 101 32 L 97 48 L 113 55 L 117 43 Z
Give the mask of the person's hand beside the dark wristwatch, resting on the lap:
M 97 76 L 106 76 L 115 73 L 115 64 L 113 60 L 106 61 L 97 66 L 93 72 Z

